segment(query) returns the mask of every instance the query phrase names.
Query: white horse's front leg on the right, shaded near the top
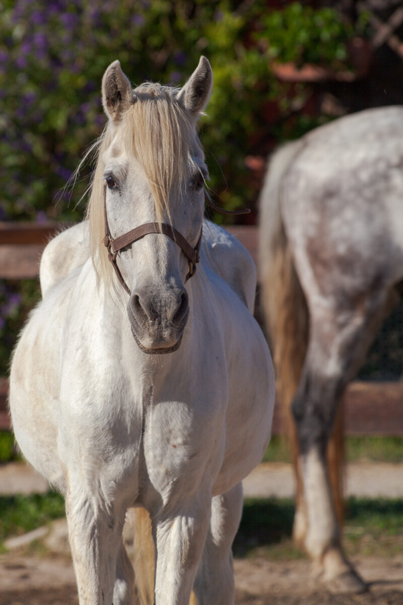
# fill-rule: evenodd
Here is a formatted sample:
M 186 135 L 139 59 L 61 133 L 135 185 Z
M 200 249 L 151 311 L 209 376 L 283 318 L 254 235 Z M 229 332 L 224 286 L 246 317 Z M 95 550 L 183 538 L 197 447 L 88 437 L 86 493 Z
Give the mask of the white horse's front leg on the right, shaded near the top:
M 180 506 L 167 502 L 152 518 L 156 545 L 155 605 L 189 605 L 201 559 L 211 509 L 211 486 Z

